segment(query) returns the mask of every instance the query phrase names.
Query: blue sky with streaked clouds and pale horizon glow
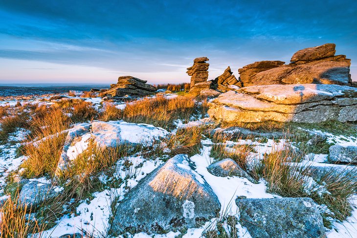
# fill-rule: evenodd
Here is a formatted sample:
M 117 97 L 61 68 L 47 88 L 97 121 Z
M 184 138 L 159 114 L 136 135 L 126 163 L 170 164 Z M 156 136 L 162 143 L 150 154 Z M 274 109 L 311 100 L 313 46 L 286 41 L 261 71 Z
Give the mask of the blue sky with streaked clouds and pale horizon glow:
M 355 0 L 0 0 L 0 83 L 189 82 L 335 43 L 357 81 Z

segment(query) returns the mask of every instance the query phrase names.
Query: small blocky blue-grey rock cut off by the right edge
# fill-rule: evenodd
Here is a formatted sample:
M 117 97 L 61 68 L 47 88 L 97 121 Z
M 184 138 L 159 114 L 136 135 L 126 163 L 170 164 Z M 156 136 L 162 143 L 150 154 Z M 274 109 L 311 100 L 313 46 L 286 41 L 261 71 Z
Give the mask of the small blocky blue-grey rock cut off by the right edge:
M 356 113 L 357 111 L 355 111 Z M 357 163 L 357 147 L 333 145 L 329 149 L 331 162 Z

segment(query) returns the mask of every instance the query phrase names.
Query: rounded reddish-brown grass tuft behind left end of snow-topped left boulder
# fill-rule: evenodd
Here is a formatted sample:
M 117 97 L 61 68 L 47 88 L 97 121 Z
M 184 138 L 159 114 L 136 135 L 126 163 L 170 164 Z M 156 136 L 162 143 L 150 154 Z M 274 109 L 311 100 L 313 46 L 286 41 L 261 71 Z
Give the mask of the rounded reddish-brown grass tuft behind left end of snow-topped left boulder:
M 92 107 L 91 103 L 81 101 L 73 106 L 71 120 L 73 122 L 87 122 L 95 119 L 98 111 Z

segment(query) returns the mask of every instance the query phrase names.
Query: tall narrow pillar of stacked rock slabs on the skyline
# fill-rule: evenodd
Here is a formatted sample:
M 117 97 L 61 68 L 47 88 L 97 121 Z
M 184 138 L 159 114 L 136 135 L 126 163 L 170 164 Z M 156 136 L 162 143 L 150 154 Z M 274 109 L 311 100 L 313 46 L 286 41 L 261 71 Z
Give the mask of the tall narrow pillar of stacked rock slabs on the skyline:
M 191 76 L 190 92 L 200 92 L 210 87 L 212 82 L 207 82 L 209 64 L 206 61 L 209 61 L 207 57 L 196 58 L 194 64 L 187 68 L 186 73 Z

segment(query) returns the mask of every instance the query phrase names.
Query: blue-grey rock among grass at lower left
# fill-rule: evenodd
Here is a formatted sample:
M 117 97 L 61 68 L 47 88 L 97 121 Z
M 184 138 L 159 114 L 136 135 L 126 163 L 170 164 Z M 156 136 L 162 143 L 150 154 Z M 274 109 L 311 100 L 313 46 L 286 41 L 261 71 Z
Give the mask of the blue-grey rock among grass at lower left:
M 19 202 L 21 206 L 35 207 L 46 199 L 55 197 L 62 191 L 59 187 L 54 187 L 47 182 L 41 182 L 38 180 L 26 182 L 19 194 Z

